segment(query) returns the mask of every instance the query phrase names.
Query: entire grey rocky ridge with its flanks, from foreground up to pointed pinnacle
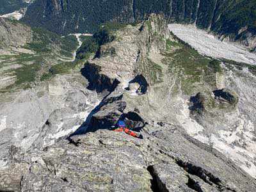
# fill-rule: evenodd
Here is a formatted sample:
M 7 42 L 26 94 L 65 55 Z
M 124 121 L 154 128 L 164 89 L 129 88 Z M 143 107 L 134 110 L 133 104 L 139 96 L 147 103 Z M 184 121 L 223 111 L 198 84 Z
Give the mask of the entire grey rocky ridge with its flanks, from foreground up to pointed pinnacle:
M 1 111 L 26 106 L 42 119 L 36 127 L 29 115 L 16 126 L 8 127 L 11 115 L 1 120 L 1 135 L 9 137 L 2 143 L 0 190 L 255 191 L 255 179 L 244 172 L 255 170 L 248 145 L 255 137 L 248 129 L 255 125 L 254 68 L 246 73 L 234 61 L 202 56 L 155 14 L 138 25 L 102 28 L 91 38 L 80 56 L 95 44 L 99 49 L 81 74 L 54 76 L 1 104 Z M 118 119 L 141 131 L 143 140 L 106 130 Z M 199 131 L 221 141 L 219 131 L 235 134 L 237 141 L 226 143 L 234 162 L 214 143 L 188 135 Z M 236 158 L 237 148 L 244 154 Z

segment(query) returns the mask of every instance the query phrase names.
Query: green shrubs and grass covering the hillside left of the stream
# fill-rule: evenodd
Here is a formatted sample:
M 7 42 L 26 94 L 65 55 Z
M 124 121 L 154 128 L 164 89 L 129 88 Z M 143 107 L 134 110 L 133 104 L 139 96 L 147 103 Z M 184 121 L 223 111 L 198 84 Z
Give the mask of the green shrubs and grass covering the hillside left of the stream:
M 45 81 L 54 74 L 68 72 L 79 64 L 79 61 L 76 63 L 60 63 L 60 58 L 64 60 L 68 60 L 68 58 L 70 58 L 70 60 L 72 59 L 72 52 L 75 51 L 78 46 L 76 36 L 68 35 L 61 37 L 56 33 L 42 28 L 32 28 L 32 31 L 32 42 L 24 45 L 23 48 L 29 49 L 35 53 L 1 56 L 1 60 L 4 60 L 4 62 L 2 62 L 3 66 L 1 67 L 8 67 L 8 65 L 11 65 L 10 63 L 17 63 L 20 66 L 19 68 L 10 68 L 10 70 L 3 72 L 3 74 L 12 74 L 12 76 L 16 76 L 17 79 L 14 84 L 6 87 L 2 92 L 11 91 L 14 88 L 29 88 L 32 83 L 38 82 L 39 79 Z M 48 68 L 50 68 L 50 72 L 44 73 Z

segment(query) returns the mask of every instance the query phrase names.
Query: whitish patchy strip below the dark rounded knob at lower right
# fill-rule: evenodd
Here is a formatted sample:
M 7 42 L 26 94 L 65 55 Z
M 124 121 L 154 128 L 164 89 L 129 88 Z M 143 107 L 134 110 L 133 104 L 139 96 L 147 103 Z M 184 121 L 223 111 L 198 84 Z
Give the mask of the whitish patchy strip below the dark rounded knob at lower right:
M 182 106 L 180 113 L 176 115 L 177 120 L 190 136 L 202 143 L 212 145 L 213 148 L 225 154 L 245 172 L 256 178 L 256 143 L 253 141 L 255 138 L 253 122 L 250 120 L 246 122 L 244 120 L 246 118 L 241 116 L 237 119 L 239 124 L 235 130 L 218 130 L 211 135 L 205 135 L 204 127 L 190 118 L 188 102 L 182 99 L 179 99 L 179 102 L 182 103 Z

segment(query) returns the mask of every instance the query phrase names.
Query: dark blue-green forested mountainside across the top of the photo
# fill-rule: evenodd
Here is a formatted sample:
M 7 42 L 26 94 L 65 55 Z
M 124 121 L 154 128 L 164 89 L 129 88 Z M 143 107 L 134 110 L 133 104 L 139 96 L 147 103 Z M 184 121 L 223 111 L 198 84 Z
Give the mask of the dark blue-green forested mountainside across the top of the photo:
M 106 21 L 138 22 L 149 13 L 162 13 L 169 22 L 195 23 L 232 40 L 256 33 L 253 0 L 37 0 L 24 20 L 57 33 L 94 32 Z M 241 35 L 241 28 L 246 28 Z

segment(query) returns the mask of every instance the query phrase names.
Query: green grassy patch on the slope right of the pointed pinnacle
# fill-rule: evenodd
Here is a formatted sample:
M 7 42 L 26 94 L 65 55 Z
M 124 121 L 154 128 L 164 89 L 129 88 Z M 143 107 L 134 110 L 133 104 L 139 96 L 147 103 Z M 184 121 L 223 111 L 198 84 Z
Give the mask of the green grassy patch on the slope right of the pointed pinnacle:
M 175 47 L 175 49 L 172 49 Z M 182 41 L 166 42 L 165 63 L 169 72 L 175 73 L 182 90 L 191 95 L 199 84 L 207 83 L 212 89 L 216 86 L 216 72 L 221 72 L 220 61 L 200 55 Z

